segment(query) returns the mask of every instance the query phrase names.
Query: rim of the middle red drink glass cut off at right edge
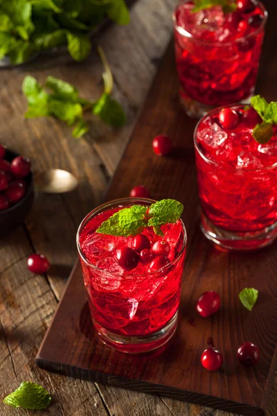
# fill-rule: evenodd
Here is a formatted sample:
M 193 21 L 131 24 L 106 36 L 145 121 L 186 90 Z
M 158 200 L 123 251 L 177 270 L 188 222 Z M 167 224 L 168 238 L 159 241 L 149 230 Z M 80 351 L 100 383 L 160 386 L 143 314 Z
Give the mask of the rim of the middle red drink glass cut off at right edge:
M 202 123 L 202 121 L 204 121 L 204 119 L 212 116 L 213 114 L 215 114 L 216 112 L 219 112 L 220 110 L 222 110 L 223 108 L 227 108 L 227 107 L 236 107 L 236 108 L 242 108 L 245 107 L 245 105 L 243 104 L 229 104 L 229 105 L 224 105 L 224 106 L 220 106 L 217 108 L 214 108 L 213 110 L 209 111 L 207 114 L 205 114 L 197 123 L 197 125 L 195 125 L 195 130 L 193 132 L 193 141 L 194 141 L 194 145 L 195 145 L 195 149 L 197 150 L 197 152 L 199 153 L 199 155 L 205 160 L 205 162 L 209 163 L 209 164 L 213 164 L 215 166 L 219 166 L 224 168 L 224 165 L 222 165 L 221 162 L 217 162 L 213 159 L 210 159 L 209 157 L 207 157 L 206 155 L 204 155 L 204 153 L 202 152 L 201 148 L 199 148 L 198 143 L 197 143 L 197 130 L 199 128 L 200 123 Z M 247 169 L 247 171 L 245 171 L 244 169 L 237 169 L 237 168 L 232 168 L 232 167 L 228 167 L 229 171 L 234 171 L 234 172 L 259 172 L 259 171 L 269 171 L 270 169 L 276 168 L 277 167 L 277 162 L 275 162 L 274 164 L 271 164 L 269 166 L 262 166 L 261 168 L 255 168 L 255 169 Z

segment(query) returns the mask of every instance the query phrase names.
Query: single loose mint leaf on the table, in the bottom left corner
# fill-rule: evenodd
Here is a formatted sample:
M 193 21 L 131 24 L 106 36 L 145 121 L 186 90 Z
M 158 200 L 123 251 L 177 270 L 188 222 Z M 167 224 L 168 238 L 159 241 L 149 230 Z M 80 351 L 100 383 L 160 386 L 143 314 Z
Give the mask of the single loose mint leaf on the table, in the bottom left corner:
M 3 399 L 3 403 L 14 408 L 43 410 L 50 404 L 51 399 L 47 390 L 41 385 L 24 381 L 17 390 Z

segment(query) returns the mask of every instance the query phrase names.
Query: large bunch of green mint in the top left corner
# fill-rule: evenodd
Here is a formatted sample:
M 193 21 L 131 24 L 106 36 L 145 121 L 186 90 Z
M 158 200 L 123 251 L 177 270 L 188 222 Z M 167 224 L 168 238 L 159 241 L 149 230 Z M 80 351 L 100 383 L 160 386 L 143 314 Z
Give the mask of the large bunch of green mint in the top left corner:
M 91 50 L 89 33 L 109 17 L 129 23 L 124 0 L 1 0 L 0 59 L 26 62 L 42 49 L 67 44 L 76 61 Z

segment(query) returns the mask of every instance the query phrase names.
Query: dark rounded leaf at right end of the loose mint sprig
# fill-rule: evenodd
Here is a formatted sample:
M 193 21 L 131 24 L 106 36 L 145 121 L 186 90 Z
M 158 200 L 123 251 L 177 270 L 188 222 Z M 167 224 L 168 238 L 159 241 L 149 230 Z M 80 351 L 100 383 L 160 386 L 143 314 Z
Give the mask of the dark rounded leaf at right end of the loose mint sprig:
M 122 127 L 126 122 L 123 107 L 109 94 L 102 94 L 93 107 L 93 114 L 98 114 L 102 121 L 115 128 Z

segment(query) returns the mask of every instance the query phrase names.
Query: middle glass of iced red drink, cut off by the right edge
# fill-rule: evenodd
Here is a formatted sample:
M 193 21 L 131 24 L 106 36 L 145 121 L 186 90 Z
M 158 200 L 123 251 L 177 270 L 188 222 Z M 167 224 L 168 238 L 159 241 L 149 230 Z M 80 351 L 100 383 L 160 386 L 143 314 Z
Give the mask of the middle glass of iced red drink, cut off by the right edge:
M 202 230 L 225 248 L 247 250 L 276 237 L 277 134 L 258 144 L 252 136 L 258 114 L 232 108 L 238 114 L 235 126 L 223 128 L 217 109 L 195 129 Z

